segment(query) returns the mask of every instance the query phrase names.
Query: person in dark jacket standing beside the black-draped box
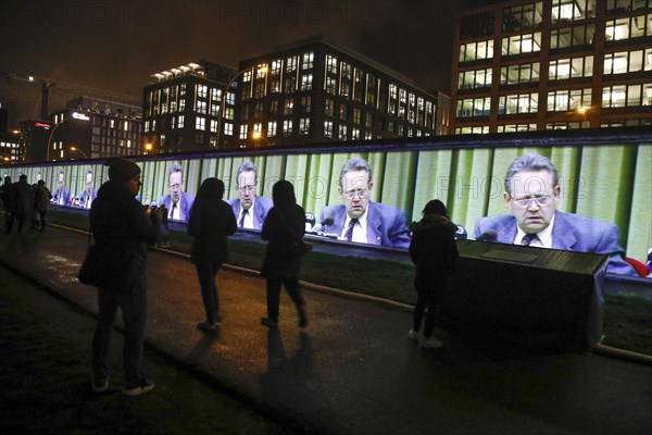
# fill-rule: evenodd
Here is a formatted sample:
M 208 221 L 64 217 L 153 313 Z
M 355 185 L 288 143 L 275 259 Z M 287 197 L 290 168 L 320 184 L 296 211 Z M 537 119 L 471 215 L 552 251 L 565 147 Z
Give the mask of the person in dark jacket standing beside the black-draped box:
M 423 219 L 412 223 L 410 228 L 410 257 L 415 265 L 416 304 L 409 337 L 413 340 L 419 339 L 418 332 L 425 316 L 421 346 L 438 348 L 442 343 L 432 337 L 435 315 L 441 296 L 450 286 L 455 272 L 459 257 L 455 244 L 457 225 L 450 221 L 446 206 L 438 199 L 428 201 L 423 214 Z

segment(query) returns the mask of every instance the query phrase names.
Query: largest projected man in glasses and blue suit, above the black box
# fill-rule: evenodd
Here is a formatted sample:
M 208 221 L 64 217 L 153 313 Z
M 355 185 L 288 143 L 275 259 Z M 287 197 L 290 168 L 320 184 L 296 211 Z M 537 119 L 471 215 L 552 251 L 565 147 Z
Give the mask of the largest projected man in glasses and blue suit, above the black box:
M 540 154 L 517 158 L 505 175 L 505 204 L 512 212 L 481 217 L 475 238 L 501 244 L 609 254 L 609 273 L 636 275 L 618 246 L 618 228 L 556 210 L 561 187 L 552 162 Z

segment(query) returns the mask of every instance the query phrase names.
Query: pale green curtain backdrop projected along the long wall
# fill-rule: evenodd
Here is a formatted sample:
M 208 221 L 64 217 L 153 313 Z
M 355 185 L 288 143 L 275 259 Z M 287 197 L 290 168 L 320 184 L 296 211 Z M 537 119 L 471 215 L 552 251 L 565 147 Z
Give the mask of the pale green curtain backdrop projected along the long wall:
M 372 167 L 372 201 L 404 210 L 409 223 L 421 219 L 428 200 L 441 199 L 450 217 L 472 237 L 479 217 L 510 213 L 503 199 L 507 166 L 526 152 L 538 152 L 557 169 L 557 210 L 614 223 L 626 254 L 647 262 L 652 246 L 652 135 L 605 135 L 590 140 L 551 135 L 530 135 L 528 140 L 518 141 L 514 138 L 491 135 L 482 137 L 481 142 L 477 136 L 468 136 L 468 140 L 455 137 L 454 142 L 421 138 L 283 151 L 166 154 L 134 161 L 142 169 L 143 203 L 159 202 L 170 194 L 168 172 L 175 163 L 184 171 L 186 192 L 193 196 L 204 178 L 218 177 L 226 185 L 225 200 L 236 198 L 236 172 L 249 159 L 258 170 L 258 195 L 271 198 L 274 183 L 288 179 L 294 185 L 298 202 L 318 220 L 322 208 L 342 202 L 337 188 L 344 162 L 361 157 Z M 89 169 L 97 189 L 108 179 L 108 167 L 101 161 L 4 166 L 3 175 L 17 181 L 25 173 L 28 183 L 36 183 L 40 176 L 54 194 L 63 171 L 64 184 L 73 198 L 67 206 L 75 207 L 74 198 L 84 191 Z

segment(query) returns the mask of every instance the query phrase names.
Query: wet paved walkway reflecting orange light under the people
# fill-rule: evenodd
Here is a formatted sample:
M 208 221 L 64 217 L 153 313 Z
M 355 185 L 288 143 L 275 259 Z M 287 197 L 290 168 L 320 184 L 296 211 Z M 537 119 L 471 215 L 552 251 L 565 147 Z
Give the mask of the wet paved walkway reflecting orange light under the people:
M 1 235 L 0 259 L 95 313 L 95 289 L 75 277 L 86 241 L 54 226 Z M 406 338 L 408 310 L 312 290 L 306 330 L 285 294 L 280 326 L 267 330 L 263 281 L 228 269 L 218 275 L 223 326 L 205 334 L 187 258 L 152 251 L 148 266 L 148 345 L 309 433 L 652 433 L 649 365 L 524 355 L 443 332 L 444 348 L 423 350 Z

